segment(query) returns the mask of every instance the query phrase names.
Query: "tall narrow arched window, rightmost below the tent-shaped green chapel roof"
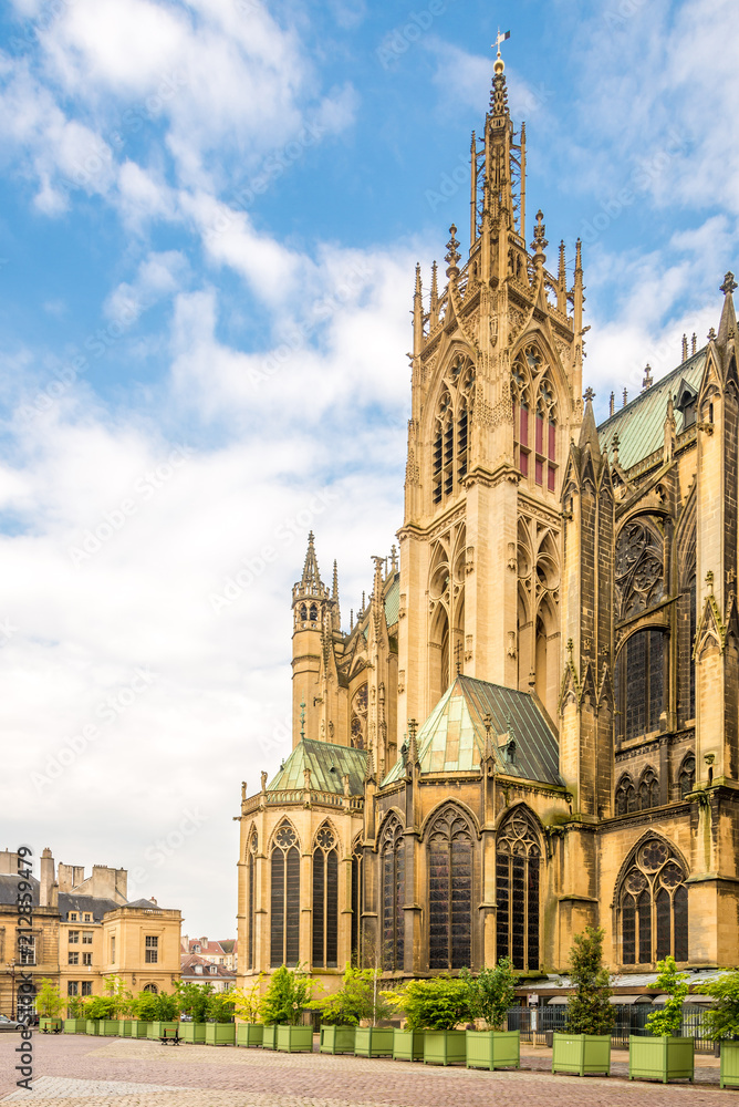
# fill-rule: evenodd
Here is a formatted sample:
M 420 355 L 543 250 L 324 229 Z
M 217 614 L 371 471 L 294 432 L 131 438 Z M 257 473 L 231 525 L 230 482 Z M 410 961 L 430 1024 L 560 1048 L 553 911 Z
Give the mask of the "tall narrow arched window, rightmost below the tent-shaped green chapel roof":
M 514 969 L 539 969 L 541 849 L 527 815 L 517 810 L 496 841 L 496 958 Z

